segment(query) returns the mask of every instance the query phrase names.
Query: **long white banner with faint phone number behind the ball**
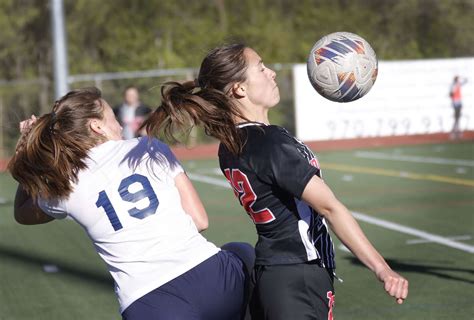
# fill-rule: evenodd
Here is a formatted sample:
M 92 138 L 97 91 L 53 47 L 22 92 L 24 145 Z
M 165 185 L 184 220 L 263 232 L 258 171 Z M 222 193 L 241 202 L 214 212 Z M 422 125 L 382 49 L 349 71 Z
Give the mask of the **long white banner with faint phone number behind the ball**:
M 453 77 L 462 87 L 461 128 L 474 129 L 474 58 L 379 61 L 377 81 L 363 98 L 331 102 L 311 86 L 306 64 L 293 67 L 296 135 L 301 140 L 449 132 Z

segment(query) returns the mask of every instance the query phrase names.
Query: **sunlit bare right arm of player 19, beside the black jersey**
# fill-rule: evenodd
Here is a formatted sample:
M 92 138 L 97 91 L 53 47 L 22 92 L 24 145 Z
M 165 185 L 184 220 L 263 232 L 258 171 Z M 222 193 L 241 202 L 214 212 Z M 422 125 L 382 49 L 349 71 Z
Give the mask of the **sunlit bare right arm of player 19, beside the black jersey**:
M 178 188 L 184 211 L 193 218 L 199 232 L 206 230 L 209 226 L 207 212 L 191 180 L 182 172 L 174 178 L 174 181 Z

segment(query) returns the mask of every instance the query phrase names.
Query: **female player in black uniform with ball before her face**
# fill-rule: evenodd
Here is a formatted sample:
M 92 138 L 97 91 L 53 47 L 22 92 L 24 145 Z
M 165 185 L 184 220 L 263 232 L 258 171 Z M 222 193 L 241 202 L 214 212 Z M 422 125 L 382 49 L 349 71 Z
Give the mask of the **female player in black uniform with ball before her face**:
M 408 281 L 390 269 L 323 182 L 313 153 L 269 123 L 279 90 L 275 72 L 254 50 L 216 48 L 194 82 L 168 82 L 161 92 L 148 132 L 173 137 L 176 127 L 202 125 L 219 139 L 221 170 L 256 224 L 255 318 L 332 319 L 335 264 L 326 222 L 403 302 Z

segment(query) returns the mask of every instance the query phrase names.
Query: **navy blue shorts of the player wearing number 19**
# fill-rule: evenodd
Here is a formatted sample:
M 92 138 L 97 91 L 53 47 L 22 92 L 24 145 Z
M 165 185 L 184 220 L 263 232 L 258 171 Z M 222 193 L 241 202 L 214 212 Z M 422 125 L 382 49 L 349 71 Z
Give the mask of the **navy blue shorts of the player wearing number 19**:
M 124 320 L 239 320 L 245 313 L 245 266 L 222 250 L 133 302 Z

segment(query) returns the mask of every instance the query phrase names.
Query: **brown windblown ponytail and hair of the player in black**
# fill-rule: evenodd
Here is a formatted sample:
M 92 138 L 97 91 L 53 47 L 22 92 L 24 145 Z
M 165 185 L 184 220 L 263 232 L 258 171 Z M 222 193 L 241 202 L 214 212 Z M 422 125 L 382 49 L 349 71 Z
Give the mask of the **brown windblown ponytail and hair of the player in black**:
M 232 86 L 246 80 L 246 46 L 231 44 L 213 49 L 204 58 L 194 81 L 166 82 L 161 87 L 161 105 L 145 121 L 148 134 L 161 131 L 176 141 L 175 129 L 202 125 L 207 135 L 217 138 L 238 154 L 243 139 L 235 119 L 245 119 L 230 97 Z

